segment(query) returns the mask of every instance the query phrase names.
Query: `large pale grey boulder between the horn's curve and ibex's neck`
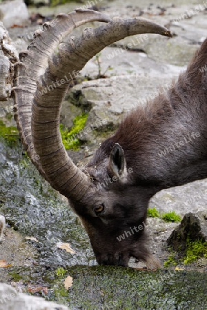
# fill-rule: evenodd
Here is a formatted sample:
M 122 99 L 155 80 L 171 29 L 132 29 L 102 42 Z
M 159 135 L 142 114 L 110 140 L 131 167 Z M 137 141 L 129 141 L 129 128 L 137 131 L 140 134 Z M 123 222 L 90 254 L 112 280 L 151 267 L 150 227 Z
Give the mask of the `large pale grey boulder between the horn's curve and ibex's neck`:
M 103 71 L 112 63 L 107 60 L 107 56 L 112 52 L 112 48 L 106 48 L 101 55 Z M 146 73 L 146 68 L 150 68 L 150 73 Z M 128 112 L 138 105 L 146 105 L 148 100 L 172 87 L 172 79 L 178 76 L 181 68 L 157 65 L 141 53 L 132 54 L 130 61 L 126 62 L 123 62 L 123 55 L 119 54 L 113 59 L 112 71 L 107 72 L 110 75 L 107 79 L 84 81 L 76 85 L 68 93 L 68 101 L 63 102 L 61 122 L 66 127 L 72 124 L 75 107 L 81 107 L 85 112 L 90 110 L 86 130 L 81 134 L 83 141 L 95 141 L 97 132 L 93 128 L 98 132 L 115 130 Z M 93 77 L 97 75 L 97 66 L 93 61 L 86 65 L 83 74 Z M 160 76 L 159 79 L 157 75 Z

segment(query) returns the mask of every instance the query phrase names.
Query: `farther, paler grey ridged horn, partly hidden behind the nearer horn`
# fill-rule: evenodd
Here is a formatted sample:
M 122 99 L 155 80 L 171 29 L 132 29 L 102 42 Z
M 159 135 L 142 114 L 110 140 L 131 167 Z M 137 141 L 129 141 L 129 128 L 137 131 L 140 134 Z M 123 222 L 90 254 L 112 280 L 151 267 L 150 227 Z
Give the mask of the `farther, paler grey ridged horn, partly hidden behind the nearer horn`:
M 28 46 L 27 51 L 19 54 L 20 62 L 14 65 L 14 87 L 12 87 L 14 119 L 28 156 L 46 180 L 48 178 L 39 163 L 39 155 L 35 152 L 32 143 L 31 116 L 34 92 L 37 90 L 36 80 L 45 72 L 48 57 L 63 37 L 79 25 L 92 21 L 108 22 L 110 19 L 105 14 L 92 10 L 79 9 L 70 14 L 58 14 L 57 19 L 43 24 L 43 31 L 34 32 L 34 41 Z

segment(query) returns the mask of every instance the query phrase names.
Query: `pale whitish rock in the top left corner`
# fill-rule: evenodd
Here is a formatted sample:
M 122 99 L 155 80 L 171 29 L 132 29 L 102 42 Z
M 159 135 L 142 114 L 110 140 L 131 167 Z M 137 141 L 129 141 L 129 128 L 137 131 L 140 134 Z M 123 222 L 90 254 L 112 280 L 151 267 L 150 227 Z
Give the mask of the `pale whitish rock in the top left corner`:
M 6 28 L 12 25 L 30 25 L 26 4 L 23 0 L 3 1 L 0 4 L 0 20 Z

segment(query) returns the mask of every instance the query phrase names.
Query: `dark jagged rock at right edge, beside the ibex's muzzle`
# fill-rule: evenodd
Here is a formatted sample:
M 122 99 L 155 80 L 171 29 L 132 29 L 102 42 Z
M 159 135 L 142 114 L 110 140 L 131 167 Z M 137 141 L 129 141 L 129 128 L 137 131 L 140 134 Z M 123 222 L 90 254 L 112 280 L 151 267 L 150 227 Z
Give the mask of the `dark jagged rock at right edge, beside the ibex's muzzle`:
M 187 238 L 207 242 L 207 211 L 186 214 L 167 242 L 174 249 L 181 251 L 186 248 Z

